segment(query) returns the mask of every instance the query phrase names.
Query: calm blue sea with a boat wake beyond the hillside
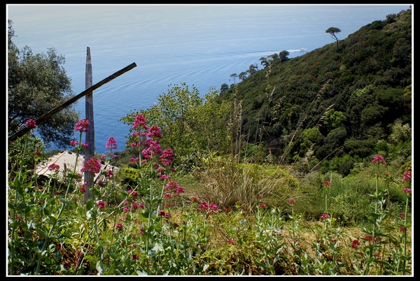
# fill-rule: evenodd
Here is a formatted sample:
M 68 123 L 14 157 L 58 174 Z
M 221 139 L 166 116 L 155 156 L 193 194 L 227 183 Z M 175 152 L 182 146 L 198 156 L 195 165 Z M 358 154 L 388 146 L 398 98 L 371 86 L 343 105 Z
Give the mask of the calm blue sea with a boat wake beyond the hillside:
M 174 85 L 186 82 L 200 95 L 231 85 L 261 57 L 288 50 L 289 58 L 342 40 L 360 27 L 409 5 L 192 5 L 9 6 L 18 48 L 35 53 L 55 48 L 74 94 L 85 90 L 87 47 L 93 85 L 132 63 L 137 66 L 93 92 L 96 152 L 113 136 L 125 150 L 129 127 L 118 122 L 150 108 Z M 300 51 L 305 48 L 305 51 Z M 236 78 L 236 82 L 239 82 Z M 85 117 L 85 99 L 74 108 Z M 56 147 L 55 147 L 56 148 Z

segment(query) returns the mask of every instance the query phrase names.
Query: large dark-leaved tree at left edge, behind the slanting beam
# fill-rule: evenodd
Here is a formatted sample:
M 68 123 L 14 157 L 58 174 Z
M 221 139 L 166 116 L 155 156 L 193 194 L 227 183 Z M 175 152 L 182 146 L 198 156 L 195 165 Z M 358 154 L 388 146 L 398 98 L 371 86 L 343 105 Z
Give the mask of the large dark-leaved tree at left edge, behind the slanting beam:
M 47 54 L 32 54 L 25 46 L 18 50 L 13 43 L 13 22 L 8 20 L 8 135 L 18 131 L 28 119 L 38 119 L 74 96 L 71 79 L 61 66 L 64 56 L 54 48 Z M 69 147 L 74 124 L 79 119 L 72 108 L 64 108 L 38 124 L 37 133 L 44 143 Z

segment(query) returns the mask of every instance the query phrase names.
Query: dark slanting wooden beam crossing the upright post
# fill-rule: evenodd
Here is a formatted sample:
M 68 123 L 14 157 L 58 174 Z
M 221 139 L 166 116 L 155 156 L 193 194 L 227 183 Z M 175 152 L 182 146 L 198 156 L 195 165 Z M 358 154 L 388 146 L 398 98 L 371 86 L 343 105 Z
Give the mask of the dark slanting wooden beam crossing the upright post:
M 74 103 L 75 101 L 77 101 L 78 99 L 82 98 L 86 94 L 88 94 L 90 92 L 93 92 L 95 89 L 97 89 L 97 88 L 101 87 L 102 85 L 106 84 L 107 82 L 109 82 L 109 81 L 117 78 L 118 76 L 126 73 L 127 71 L 130 71 L 130 70 L 134 69 L 134 67 L 136 67 L 136 66 L 137 66 L 136 63 L 133 62 L 129 66 L 125 66 L 124 69 L 121 69 L 120 71 L 117 71 L 116 73 L 113 73 L 112 75 L 108 76 L 104 80 L 97 82 L 95 85 L 93 85 L 89 89 L 85 89 L 85 91 L 81 92 L 77 96 L 73 96 L 73 98 L 69 99 L 68 101 L 65 101 L 60 106 L 57 106 L 56 108 L 48 111 L 48 113 L 45 113 L 44 115 L 42 115 L 41 117 L 39 117 L 37 120 L 35 120 L 36 125 L 42 124 L 43 122 L 45 122 L 45 120 L 48 120 L 48 118 L 51 115 L 59 112 L 60 110 L 66 108 L 67 106 L 70 106 L 71 103 Z M 12 141 L 16 141 L 17 138 L 19 138 L 20 136 L 25 135 L 28 131 L 30 131 L 30 129 L 28 129 L 27 127 L 24 127 L 22 129 L 20 129 L 15 134 L 13 134 L 13 135 L 11 135 L 11 136 L 8 137 L 8 143 L 10 143 Z

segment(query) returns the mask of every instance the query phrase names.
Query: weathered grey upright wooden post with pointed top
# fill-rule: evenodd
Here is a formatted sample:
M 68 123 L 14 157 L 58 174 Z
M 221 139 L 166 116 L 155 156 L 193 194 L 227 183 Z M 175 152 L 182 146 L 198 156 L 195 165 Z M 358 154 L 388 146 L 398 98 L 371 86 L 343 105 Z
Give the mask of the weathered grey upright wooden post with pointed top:
M 90 48 L 87 47 L 86 55 L 86 73 L 85 73 L 85 89 L 92 87 L 92 61 L 90 59 Z M 93 91 L 85 96 L 85 118 L 89 120 L 89 131 L 86 132 L 86 142 L 89 146 L 85 149 L 85 161 L 94 156 L 94 120 L 93 120 Z M 93 185 L 94 174 L 85 171 L 85 182 L 87 188 L 84 196 L 85 203 L 87 200 L 92 199 L 92 190 L 90 187 Z

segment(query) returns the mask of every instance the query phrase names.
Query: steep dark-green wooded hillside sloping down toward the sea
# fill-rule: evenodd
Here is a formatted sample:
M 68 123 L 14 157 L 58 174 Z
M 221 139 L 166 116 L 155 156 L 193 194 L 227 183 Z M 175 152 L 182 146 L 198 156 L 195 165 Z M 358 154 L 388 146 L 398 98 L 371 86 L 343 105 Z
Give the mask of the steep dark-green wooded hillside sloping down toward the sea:
M 344 175 L 378 150 L 395 159 L 392 145 L 411 145 L 412 11 L 367 24 L 338 46 L 293 59 L 280 52 L 236 85 L 222 85 L 221 100 L 241 103 L 248 143 L 261 143 L 281 164 L 299 164 L 309 152 L 312 165 L 302 170 L 325 159 L 315 168 Z M 332 165 L 334 157 L 344 160 Z M 411 150 L 398 157 L 407 160 Z

